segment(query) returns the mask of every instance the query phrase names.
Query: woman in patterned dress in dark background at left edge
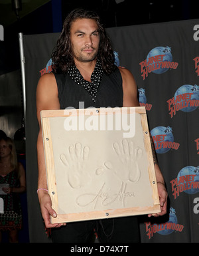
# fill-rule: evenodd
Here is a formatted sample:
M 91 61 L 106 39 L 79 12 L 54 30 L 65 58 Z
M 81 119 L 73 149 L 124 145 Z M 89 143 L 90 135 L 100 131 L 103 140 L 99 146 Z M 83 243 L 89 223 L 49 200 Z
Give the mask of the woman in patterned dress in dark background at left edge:
M 3 199 L 4 211 L 0 213 L 0 242 L 2 231 L 9 233 L 10 243 L 18 242 L 18 231 L 22 226 L 19 193 L 25 190 L 25 170 L 17 162 L 13 140 L 3 138 L 0 140 L 0 197 Z

